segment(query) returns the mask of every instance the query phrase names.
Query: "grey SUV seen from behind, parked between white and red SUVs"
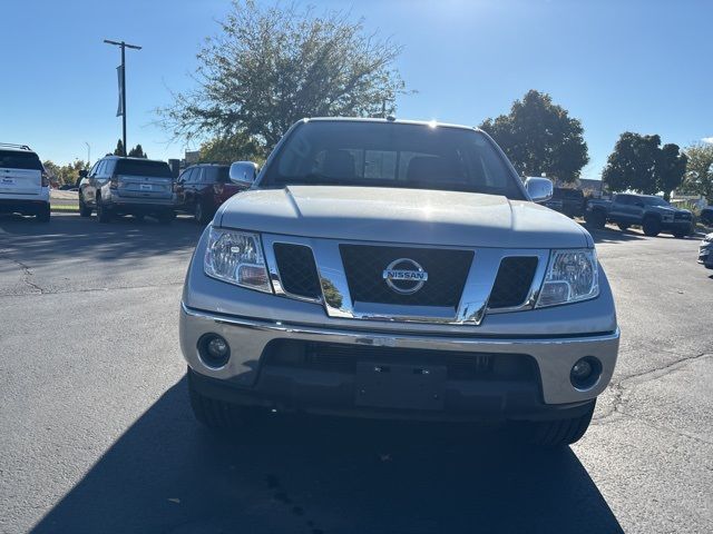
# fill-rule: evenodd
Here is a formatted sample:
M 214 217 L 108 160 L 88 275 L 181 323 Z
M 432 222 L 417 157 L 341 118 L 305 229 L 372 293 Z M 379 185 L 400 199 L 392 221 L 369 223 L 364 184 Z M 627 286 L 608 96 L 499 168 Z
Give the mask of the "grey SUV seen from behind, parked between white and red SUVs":
M 80 171 L 79 215 L 97 211 L 99 222 L 118 215 L 152 215 L 162 222 L 175 216 L 174 178 L 166 161 L 107 156 Z

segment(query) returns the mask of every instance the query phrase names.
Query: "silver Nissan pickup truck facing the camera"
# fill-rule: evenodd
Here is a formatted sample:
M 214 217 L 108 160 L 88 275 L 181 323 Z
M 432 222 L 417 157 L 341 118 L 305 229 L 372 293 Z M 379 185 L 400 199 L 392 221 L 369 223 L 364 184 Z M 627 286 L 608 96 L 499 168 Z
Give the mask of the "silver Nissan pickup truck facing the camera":
M 305 119 L 217 211 L 180 309 L 191 402 L 255 412 L 496 421 L 577 441 L 619 330 L 594 241 L 475 128 Z

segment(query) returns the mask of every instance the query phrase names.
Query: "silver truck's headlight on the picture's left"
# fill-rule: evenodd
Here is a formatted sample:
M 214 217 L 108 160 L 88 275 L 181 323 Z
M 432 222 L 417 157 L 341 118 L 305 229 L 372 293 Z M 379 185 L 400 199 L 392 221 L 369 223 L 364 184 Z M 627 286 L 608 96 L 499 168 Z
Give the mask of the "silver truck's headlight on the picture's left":
M 203 269 L 218 280 L 272 293 L 257 234 L 211 227 Z

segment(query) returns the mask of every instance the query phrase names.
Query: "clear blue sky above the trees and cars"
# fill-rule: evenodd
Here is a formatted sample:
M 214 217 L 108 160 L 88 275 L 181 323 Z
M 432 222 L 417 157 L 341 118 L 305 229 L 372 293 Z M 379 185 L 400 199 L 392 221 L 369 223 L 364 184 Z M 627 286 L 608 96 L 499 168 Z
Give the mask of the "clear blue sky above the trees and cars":
M 399 117 L 477 125 L 534 88 L 582 120 L 598 178 L 618 135 L 688 145 L 713 137 L 713 2 L 656 0 L 314 0 L 350 9 L 404 46 L 398 68 L 418 93 Z M 154 109 L 193 86 L 203 39 L 227 0 L 4 1 L 0 21 L 0 141 L 68 162 L 110 151 L 119 50 L 127 51 L 128 141 L 180 157 Z M 191 148 L 191 147 L 189 147 Z

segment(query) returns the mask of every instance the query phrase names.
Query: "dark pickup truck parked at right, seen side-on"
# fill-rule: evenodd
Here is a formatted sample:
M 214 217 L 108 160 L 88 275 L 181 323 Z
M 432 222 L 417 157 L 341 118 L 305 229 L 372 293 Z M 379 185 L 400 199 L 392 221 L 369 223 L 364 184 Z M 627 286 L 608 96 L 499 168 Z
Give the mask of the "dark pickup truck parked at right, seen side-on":
M 615 222 L 622 231 L 638 225 L 647 236 L 665 231 L 685 237 L 693 229 L 693 214 L 677 209 L 661 197 L 652 195 L 618 194 L 612 200 L 589 200 L 585 220 L 595 228 Z

